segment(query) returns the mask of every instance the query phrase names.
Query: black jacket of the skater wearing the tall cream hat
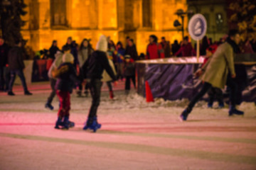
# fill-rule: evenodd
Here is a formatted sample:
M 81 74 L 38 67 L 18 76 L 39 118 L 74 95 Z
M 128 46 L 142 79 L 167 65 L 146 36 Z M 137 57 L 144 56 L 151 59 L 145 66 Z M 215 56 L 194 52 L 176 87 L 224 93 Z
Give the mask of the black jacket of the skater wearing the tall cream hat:
M 107 60 L 106 52 L 98 51 L 92 52 L 92 55 L 88 58 L 86 62 L 87 69 L 87 79 L 102 79 L 102 73 L 105 69 L 107 74 L 110 74 L 110 77 L 113 80 L 116 80 L 114 72 L 110 67 L 110 63 Z

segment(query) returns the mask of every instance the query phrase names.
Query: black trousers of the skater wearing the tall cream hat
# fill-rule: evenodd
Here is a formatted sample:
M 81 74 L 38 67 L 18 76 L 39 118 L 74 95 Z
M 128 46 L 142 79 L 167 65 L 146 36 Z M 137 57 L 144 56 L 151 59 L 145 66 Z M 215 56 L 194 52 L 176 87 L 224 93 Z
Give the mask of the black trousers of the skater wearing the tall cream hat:
M 92 96 L 92 105 L 89 111 L 89 118 L 97 116 L 97 108 L 100 106 L 100 91 L 102 81 L 100 79 L 91 79 L 89 83 L 90 94 Z

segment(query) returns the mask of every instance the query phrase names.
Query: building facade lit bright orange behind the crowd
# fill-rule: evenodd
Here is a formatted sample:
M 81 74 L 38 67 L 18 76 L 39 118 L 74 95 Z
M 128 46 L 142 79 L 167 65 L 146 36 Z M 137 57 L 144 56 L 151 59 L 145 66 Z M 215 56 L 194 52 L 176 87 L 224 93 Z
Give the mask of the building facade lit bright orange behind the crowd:
M 23 38 L 33 50 L 48 49 L 52 40 L 58 47 L 71 36 L 78 44 L 90 38 L 93 47 L 100 35 L 110 36 L 115 43 L 129 36 L 138 52 L 145 52 L 149 35 L 155 34 L 174 42 L 181 31 L 174 27 L 178 9 L 187 10 L 186 0 L 25 0 L 28 14 L 23 18 Z M 187 30 L 188 18 L 184 28 Z M 185 31 L 185 35 L 188 33 Z

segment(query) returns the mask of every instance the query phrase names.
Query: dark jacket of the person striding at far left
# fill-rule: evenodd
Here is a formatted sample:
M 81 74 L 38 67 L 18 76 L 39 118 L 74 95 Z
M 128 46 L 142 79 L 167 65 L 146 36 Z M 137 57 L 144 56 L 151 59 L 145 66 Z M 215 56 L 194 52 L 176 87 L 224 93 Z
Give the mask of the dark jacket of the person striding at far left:
M 8 54 L 8 63 L 10 70 L 25 68 L 21 47 L 15 46 L 11 48 Z

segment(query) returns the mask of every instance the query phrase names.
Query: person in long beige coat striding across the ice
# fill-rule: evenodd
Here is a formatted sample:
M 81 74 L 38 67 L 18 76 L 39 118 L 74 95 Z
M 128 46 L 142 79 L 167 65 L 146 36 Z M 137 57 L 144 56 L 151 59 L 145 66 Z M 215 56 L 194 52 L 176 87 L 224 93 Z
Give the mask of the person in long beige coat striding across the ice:
M 188 114 L 191 113 L 193 106 L 198 100 L 203 97 L 210 87 L 218 87 L 223 89 L 225 85 L 229 86 L 230 91 L 230 109 L 228 115 L 243 115 L 242 111 L 238 111 L 235 108 L 235 94 L 238 90 L 238 85 L 233 80 L 235 78 L 235 66 L 234 66 L 234 50 L 230 45 L 230 42 L 238 44 L 240 42 L 240 35 L 238 30 L 230 30 L 228 34 L 228 41 L 218 47 L 213 57 L 206 62 L 206 64 L 198 69 L 196 76 L 200 76 L 200 79 L 204 81 L 201 91 L 191 100 L 187 108 L 181 113 L 180 119 L 186 120 Z

